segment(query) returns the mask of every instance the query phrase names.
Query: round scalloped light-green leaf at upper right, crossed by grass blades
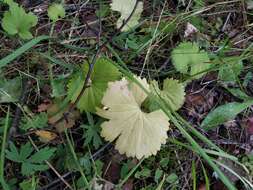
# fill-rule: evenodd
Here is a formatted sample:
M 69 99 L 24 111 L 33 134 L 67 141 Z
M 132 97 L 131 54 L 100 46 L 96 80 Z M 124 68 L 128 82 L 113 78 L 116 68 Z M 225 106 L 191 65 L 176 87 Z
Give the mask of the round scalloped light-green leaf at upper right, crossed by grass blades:
M 193 79 L 199 79 L 211 67 L 207 52 L 200 50 L 196 43 L 180 43 L 173 49 L 171 58 L 178 72 L 188 74 Z

